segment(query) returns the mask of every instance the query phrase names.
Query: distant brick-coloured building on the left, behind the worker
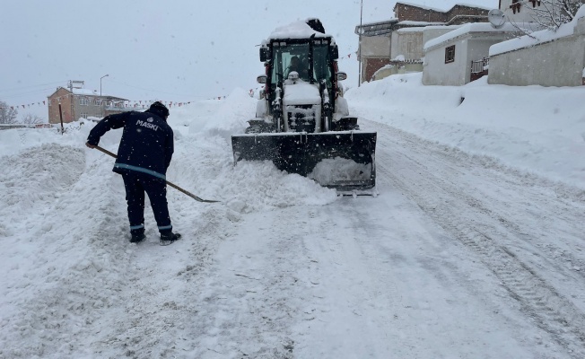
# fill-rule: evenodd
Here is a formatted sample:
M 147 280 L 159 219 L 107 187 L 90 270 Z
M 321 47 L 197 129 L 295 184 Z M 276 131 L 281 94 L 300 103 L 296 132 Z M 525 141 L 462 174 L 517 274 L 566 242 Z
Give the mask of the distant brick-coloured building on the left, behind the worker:
M 48 99 L 48 123 L 61 123 L 59 115 L 59 104 L 63 122 L 73 122 L 79 118 L 103 118 L 113 113 L 120 113 L 129 110 L 124 106 L 120 97 L 100 95 L 92 90 L 74 87 L 74 83 L 83 85 L 83 82 L 70 82 L 69 88 L 58 87 Z

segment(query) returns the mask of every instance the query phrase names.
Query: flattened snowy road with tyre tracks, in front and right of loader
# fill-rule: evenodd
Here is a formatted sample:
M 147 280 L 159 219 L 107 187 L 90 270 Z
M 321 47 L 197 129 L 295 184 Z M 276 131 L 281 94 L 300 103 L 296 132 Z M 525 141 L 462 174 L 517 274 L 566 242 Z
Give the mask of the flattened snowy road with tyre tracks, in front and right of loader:
M 200 279 L 193 357 L 585 355 L 580 192 L 364 127 L 380 197 L 243 215 Z

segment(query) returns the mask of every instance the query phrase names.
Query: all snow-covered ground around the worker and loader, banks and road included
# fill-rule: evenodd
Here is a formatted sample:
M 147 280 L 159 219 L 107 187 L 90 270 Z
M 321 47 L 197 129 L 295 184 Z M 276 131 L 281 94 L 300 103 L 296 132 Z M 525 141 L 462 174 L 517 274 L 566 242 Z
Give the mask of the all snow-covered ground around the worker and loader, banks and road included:
M 168 180 L 222 202 L 170 188 L 169 247 L 150 207 L 129 243 L 92 123 L 0 131 L 0 358 L 585 357 L 585 88 L 408 74 L 346 97 L 379 197 L 233 166 L 248 91 L 171 109 Z

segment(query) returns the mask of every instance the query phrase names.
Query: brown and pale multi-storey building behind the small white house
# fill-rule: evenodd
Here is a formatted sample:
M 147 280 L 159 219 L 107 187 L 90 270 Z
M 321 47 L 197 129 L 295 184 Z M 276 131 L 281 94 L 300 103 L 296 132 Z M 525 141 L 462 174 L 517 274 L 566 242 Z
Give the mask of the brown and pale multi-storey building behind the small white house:
M 385 67 L 386 74 L 423 71 L 424 42 L 431 36 L 469 22 L 487 22 L 490 9 L 456 4 L 449 11 L 428 6 L 398 2 L 395 18 L 385 22 L 371 22 L 355 27 L 360 36 L 358 61 L 362 72 L 360 82 L 371 81 L 374 74 Z M 432 26 L 433 31 L 423 31 Z

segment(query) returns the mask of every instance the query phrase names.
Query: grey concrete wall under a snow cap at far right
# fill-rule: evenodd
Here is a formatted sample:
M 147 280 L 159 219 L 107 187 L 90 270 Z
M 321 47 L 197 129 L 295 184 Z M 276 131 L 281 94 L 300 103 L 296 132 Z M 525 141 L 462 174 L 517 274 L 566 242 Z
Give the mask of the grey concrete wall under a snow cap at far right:
M 585 67 L 585 18 L 576 34 L 490 57 L 488 83 L 581 86 Z

